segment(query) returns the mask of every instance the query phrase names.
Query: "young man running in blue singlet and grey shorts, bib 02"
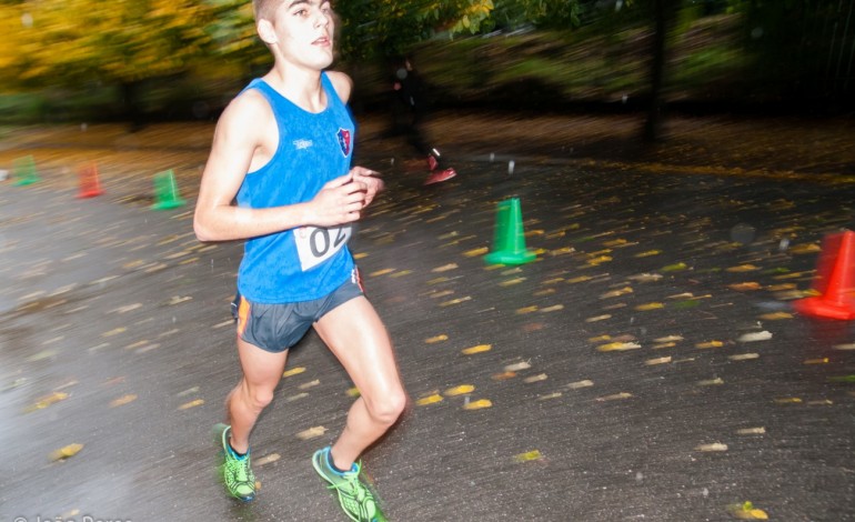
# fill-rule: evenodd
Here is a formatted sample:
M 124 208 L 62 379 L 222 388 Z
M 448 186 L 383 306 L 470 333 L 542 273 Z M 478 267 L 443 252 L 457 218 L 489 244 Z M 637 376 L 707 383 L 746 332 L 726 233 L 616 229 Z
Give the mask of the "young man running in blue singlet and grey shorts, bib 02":
M 238 272 L 243 375 L 222 426 L 227 490 L 255 496 L 250 433 L 310 327 L 360 391 L 335 442 L 312 456 L 355 521 L 385 520 L 360 481 L 359 455 L 398 420 L 404 392 L 392 343 L 363 295 L 346 241 L 383 183 L 351 168 L 352 82 L 335 71 L 334 14 L 324 0 L 253 0 L 273 68 L 223 111 L 202 174 L 193 228 L 201 241 L 245 240 Z M 237 201 L 237 204 L 232 204 Z

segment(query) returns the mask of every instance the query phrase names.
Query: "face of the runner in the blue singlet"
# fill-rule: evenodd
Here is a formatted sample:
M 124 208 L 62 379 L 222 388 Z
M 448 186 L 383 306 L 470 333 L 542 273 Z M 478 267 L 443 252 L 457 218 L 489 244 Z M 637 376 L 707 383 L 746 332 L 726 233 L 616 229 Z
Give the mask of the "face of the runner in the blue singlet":
M 285 0 L 273 20 L 283 57 L 319 70 L 332 63 L 334 29 L 332 7 L 326 0 Z

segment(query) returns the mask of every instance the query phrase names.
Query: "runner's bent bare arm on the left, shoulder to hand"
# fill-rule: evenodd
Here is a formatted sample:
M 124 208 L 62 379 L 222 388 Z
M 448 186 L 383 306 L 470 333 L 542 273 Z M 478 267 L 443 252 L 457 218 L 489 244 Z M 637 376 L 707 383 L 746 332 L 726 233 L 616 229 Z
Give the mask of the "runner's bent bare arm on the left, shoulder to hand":
M 252 91 L 238 97 L 223 112 L 197 200 L 193 230 L 199 240 L 247 239 L 306 224 L 343 224 L 360 218 L 369 187 L 361 181 L 352 183 L 352 173 L 330 181 L 306 203 L 270 209 L 232 204 L 245 173 L 273 153 L 266 150 L 273 145 L 265 145 L 264 141 L 272 121 L 266 101 Z

